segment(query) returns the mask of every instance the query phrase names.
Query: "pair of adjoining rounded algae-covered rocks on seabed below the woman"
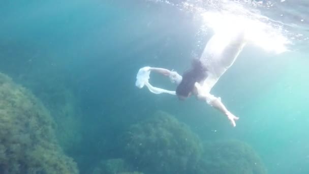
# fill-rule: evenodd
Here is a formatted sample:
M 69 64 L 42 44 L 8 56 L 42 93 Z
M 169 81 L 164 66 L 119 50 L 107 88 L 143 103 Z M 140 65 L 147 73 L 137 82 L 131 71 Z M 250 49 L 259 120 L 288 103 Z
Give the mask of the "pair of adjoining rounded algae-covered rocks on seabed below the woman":
M 265 174 L 254 149 L 240 140 L 202 143 L 184 123 L 158 111 L 122 137 L 125 159 L 144 173 Z

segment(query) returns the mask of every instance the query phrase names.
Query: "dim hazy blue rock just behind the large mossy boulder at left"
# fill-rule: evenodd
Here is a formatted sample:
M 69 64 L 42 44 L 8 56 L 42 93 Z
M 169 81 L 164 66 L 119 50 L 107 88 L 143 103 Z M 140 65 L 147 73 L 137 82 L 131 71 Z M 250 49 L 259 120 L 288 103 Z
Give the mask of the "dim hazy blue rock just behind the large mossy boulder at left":
M 48 66 L 49 67 L 49 66 Z M 56 124 L 55 133 L 61 148 L 74 154 L 82 141 L 82 113 L 79 99 L 66 86 L 65 77 L 54 69 L 40 69 L 20 76 L 21 84 L 30 89 L 50 111 Z

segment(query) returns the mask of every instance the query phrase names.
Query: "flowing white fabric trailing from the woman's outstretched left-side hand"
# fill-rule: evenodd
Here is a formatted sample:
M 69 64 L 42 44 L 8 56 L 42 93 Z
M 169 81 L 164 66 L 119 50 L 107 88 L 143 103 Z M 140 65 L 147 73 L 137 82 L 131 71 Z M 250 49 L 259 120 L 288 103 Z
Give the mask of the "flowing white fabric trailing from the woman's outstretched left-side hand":
M 136 75 L 135 85 L 139 89 L 142 89 L 146 85 L 148 90 L 151 93 L 154 93 L 154 94 L 167 93 L 167 94 L 171 94 L 171 95 L 176 95 L 175 91 L 168 91 L 168 90 L 164 90 L 164 89 L 152 86 L 149 83 L 149 78 L 150 78 L 150 67 L 143 67 L 143 68 L 139 69 L 139 71 Z

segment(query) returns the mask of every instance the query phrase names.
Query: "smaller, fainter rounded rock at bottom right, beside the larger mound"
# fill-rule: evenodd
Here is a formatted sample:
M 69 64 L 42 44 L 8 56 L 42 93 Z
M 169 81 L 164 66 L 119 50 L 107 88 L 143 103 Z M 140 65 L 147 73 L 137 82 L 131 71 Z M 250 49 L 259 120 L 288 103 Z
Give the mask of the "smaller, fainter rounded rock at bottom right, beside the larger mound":
M 209 141 L 197 173 L 265 174 L 262 160 L 254 149 L 239 140 Z

